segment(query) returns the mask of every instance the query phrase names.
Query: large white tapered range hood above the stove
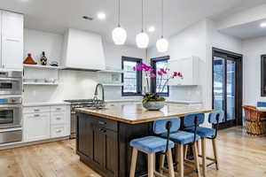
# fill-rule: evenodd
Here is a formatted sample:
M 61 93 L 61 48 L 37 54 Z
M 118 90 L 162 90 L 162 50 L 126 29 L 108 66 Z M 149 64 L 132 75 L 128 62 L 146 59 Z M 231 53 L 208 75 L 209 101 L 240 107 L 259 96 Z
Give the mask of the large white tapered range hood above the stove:
M 104 70 L 106 61 L 101 35 L 68 29 L 65 35 L 63 66 L 73 69 Z

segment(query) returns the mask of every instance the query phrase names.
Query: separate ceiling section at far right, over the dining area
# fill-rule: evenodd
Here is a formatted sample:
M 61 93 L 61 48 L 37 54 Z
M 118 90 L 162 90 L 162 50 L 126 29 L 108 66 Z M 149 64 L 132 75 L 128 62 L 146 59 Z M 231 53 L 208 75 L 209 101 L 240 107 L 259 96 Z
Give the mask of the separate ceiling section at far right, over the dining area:
M 239 26 L 228 27 L 222 29 L 221 32 L 227 35 L 238 37 L 239 39 L 249 39 L 266 35 L 266 28 L 260 27 L 261 23 L 265 23 L 266 19 L 260 19 Z

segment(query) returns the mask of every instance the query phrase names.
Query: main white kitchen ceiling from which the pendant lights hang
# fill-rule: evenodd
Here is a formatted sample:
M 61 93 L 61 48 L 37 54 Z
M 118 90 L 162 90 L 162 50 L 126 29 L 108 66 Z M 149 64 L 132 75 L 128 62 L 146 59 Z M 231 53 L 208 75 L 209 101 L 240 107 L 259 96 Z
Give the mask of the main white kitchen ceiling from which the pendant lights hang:
M 97 32 L 107 41 L 117 25 L 118 0 L 1 0 L 0 8 L 25 14 L 25 27 L 63 34 L 68 27 Z M 265 3 L 265 0 L 165 0 L 165 36 L 175 35 L 192 23 Z M 106 12 L 106 21 L 82 19 Z M 226 13 L 226 14 L 224 14 Z M 151 45 L 160 36 L 160 0 L 145 0 L 145 24 L 156 31 Z M 121 26 L 128 32 L 128 44 L 135 44 L 141 28 L 141 0 L 121 0 Z

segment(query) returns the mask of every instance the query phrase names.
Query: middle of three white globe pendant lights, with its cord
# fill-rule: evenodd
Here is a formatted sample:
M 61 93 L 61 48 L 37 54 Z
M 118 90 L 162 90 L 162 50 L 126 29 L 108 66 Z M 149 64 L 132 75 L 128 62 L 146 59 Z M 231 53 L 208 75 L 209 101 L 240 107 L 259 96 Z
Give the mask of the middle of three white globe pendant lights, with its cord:
M 149 35 L 147 35 L 144 32 L 144 2 L 142 0 L 141 2 L 141 6 L 142 6 L 142 23 L 141 23 L 141 32 L 139 34 L 136 35 L 136 42 L 137 42 L 137 47 L 141 48 L 141 49 L 145 49 L 148 47 L 149 44 Z

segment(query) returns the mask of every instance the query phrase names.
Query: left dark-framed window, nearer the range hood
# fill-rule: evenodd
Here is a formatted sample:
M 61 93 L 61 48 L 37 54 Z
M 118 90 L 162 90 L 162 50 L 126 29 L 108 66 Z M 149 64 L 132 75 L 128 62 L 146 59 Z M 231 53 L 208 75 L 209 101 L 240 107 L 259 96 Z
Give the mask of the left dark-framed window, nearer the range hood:
M 142 73 L 133 71 L 133 67 L 142 63 L 141 58 L 122 57 L 122 96 L 141 96 Z

